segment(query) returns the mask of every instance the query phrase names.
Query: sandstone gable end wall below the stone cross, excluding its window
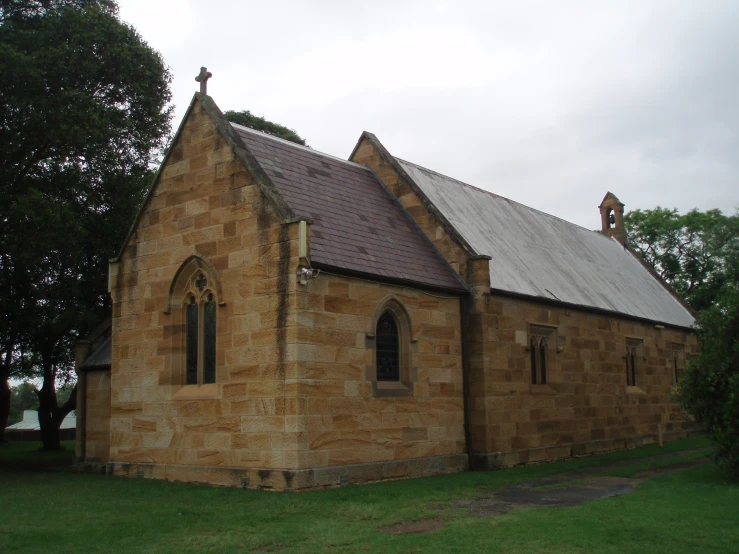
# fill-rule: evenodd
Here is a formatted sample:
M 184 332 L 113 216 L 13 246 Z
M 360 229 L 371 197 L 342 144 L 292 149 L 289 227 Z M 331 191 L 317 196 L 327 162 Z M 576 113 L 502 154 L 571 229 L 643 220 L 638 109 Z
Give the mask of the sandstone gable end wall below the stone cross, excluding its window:
M 203 468 L 295 467 L 298 225 L 280 222 L 198 101 L 136 229 L 112 272 L 110 468 L 220 482 Z M 170 286 L 192 255 L 220 280 L 215 385 L 186 386 L 178 369 Z

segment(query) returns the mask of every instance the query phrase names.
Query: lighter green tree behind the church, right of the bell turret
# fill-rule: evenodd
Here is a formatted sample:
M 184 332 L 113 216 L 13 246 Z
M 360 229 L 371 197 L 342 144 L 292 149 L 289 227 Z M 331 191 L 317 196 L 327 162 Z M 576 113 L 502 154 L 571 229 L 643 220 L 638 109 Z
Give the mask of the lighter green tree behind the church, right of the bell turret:
M 739 214 L 657 207 L 634 210 L 624 223 L 629 244 L 697 311 L 739 283 Z

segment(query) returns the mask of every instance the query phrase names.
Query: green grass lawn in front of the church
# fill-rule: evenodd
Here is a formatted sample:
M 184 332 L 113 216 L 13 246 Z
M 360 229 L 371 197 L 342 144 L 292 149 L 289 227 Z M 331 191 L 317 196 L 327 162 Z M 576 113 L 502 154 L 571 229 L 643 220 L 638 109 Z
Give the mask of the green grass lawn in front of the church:
M 663 449 L 295 494 L 23 471 L 19 459 L 39 467 L 42 455 L 11 445 L 0 448 L 0 552 L 737 552 L 739 486 L 713 464 L 572 508 L 497 517 L 438 509 L 588 467 L 633 475 L 667 463 L 649 456 L 680 452 L 675 461 L 684 462 L 705 456 L 689 451 L 706 446 L 693 437 Z M 422 519 L 443 526 L 425 534 L 382 531 Z

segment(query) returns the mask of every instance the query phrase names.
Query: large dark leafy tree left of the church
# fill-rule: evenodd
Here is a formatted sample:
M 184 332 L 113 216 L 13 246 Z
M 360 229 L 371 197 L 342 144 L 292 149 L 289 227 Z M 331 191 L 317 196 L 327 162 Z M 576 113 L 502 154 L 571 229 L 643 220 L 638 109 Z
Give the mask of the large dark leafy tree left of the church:
M 35 374 L 46 448 L 72 344 L 108 308 L 107 260 L 170 130 L 171 76 L 105 0 L 0 8 L 0 433 L 8 379 Z M 2 440 L 3 435 L 0 435 Z

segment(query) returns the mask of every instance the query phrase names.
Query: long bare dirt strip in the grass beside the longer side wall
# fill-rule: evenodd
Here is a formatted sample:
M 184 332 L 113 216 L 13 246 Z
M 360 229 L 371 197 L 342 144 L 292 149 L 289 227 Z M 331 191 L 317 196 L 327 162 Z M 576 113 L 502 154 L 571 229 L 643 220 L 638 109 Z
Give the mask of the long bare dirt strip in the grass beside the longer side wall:
M 628 463 L 619 462 L 598 468 L 585 468 L 547 479 L 535 479 L 533 481 L 517 483 L 496 492 L 490 497 L 453 500 L 443 506 L 431 506 L 431 509 L 462 508 L 468 510 L 473 517 L 495 517 L 507 514 L 515 508 L 578 506 L 594 500 L 628 494 L 633 492 L 637 485 L 646 479 L 673 471 L 697 467 L 708 462 L 708 460 L 704 459 L 677 462 L 672 465 L 664 465 L 642 471 L 634 477 L 603 475 L 603 473 L 627 467 L 630 464 L 663 461 L 681 454 L 684 454 L 684 452 L 677 453 L 676 455 L 667 454 L 641 460 L 632 460 Z

